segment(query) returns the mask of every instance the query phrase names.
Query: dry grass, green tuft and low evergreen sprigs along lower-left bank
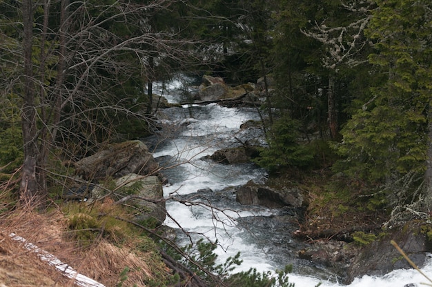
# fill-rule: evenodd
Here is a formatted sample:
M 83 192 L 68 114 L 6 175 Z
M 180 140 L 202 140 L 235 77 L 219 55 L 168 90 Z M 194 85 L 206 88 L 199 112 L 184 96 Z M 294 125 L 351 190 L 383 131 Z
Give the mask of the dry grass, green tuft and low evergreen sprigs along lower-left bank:
M 217 243 L 202 240 L 179 248 L 164 238 L 161 226 L 135 223 L 128 208 L 109 197 L 92 204 L 56 204 L 45 212 L 18 208 L 4 212 L 0 224 L 0 273 L 7 275 L 0 276 L 0 283 L 10 284 L 10 275 L 19 286 L 28 282 L 31 286 L 73 285 L 72 279 L 41 262 L 37 254 L 26 252 L 22 242 L 12 241 L 14 233 L 105 286 L 189 286 L 195 277 L 199 283 L 190 286 L 294 286 L 288 280 L 289 268 L 275 274 L 253 268 L 233 274 L 242 262 L 240 254 L 216 264 Z M 164 251 L 168 249 L 170 255 Z M 8 264 L 3 266 L 4 262 Z M 32 266 L 39 266 L 37 273 Z

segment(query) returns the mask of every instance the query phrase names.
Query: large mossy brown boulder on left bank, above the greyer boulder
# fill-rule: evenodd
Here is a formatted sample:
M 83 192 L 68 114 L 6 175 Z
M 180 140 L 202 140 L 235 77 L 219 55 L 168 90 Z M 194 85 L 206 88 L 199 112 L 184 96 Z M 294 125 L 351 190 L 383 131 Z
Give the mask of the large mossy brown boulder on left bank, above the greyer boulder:
M 159 168 L 147 146 L 138 140 L 112 144 L 75 162 L 74 166 L 77 175 L 91 181 L 119 178 L 129 173 L 151 175 Z

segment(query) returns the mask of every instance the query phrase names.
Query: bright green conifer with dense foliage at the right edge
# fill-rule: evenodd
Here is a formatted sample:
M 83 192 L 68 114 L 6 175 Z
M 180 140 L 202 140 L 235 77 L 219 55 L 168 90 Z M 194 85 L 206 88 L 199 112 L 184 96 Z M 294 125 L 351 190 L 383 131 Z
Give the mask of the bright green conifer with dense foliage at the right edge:
M 369 61 L 387 77 L 348 121 L 340 152 L 346 172 L 379 185 L 400 206 L 415 199 L 431 169 L 432 10 L 425 0 L 376 3 L 366 30 L 376 49 Z

